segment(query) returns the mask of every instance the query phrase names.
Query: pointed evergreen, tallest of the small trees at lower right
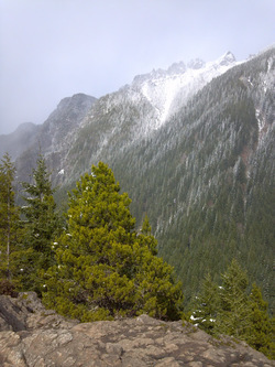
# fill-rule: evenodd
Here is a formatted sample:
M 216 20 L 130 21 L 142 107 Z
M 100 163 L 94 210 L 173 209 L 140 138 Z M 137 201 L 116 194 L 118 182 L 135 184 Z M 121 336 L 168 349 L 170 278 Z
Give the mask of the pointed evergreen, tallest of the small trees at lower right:
M 221 303 L 217 315 L 216 330 L 219 333 L 243 338 L 250 327 L 249 298 L 246 294 L 248 276 L 233 259 L 221 278 Z

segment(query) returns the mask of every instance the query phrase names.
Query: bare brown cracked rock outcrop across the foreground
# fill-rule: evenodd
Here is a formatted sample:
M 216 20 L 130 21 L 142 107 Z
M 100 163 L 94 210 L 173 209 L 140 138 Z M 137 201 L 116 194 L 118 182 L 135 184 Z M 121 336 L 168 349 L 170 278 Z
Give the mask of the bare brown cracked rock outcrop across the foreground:
M 33 292 L 0 296 L 1 367 L 271 367 L 243 342 L 215 339 L 183 322 L 142 315 L 78 323 L 45 310 Z

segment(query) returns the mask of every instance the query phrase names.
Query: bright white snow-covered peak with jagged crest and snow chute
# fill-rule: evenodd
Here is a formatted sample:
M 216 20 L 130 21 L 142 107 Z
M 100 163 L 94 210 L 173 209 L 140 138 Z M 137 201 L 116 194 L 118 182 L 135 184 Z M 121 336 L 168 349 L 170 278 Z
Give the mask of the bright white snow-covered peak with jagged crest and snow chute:
M 235 64 L 231 52 L 209 63 L 200 58 L 189 62 L 187 66 L 184 62 L 174 63 L 167 71 L 157 69 L 136 76 L 131 89 L 140 91 L 157 111 L 157 121 L 153 127 L 155 130 L 178 110 L 178 106 L 183 106 L 212 78 Z

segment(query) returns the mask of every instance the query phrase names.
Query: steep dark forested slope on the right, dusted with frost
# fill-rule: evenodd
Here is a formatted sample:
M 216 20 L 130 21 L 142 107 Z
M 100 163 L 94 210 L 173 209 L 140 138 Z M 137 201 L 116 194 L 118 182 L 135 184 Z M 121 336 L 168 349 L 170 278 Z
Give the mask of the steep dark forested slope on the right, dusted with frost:
M 274 54 L 213 79 L 157 133 L 112 161 L 134 215 L 153 222 L 187 302 L 204 274 L 223 271 L 232 257 L 272 294 Z

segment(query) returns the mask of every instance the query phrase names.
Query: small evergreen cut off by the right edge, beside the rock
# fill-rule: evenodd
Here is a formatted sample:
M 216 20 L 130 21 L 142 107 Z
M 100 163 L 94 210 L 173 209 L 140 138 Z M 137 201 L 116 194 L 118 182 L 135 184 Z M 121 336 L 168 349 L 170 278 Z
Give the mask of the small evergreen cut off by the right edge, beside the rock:
M 275 357 L 274 323 L 267 313 L 267 302 L 263 300 L 261 289 L 252 285 L 249 296 L 250 302 L 250 328 L 245 341 L 255 349 L 264 353 L 267 357 Z

